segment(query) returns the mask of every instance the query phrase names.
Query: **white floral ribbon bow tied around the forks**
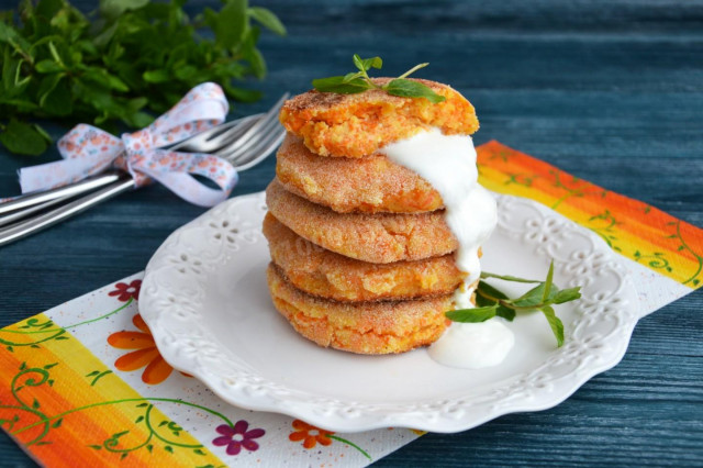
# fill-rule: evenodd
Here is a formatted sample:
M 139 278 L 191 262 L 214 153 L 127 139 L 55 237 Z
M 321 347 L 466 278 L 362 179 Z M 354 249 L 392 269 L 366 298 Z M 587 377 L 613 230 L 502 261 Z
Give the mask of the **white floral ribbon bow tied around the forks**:
M 58 142 L 63 160 L 20 169 L 22 192 L 65 186 L 116 167 L 132 175 L 135 187 L 155 179 L 183 200 L 212 207 L 225 200 L 236 185 L 236 169 L 213 155 L 163 147 L 222 123 L 228 110 L 222 88 L 204 82 L 149 126 L 121 138 L 79 124 Z M 207 177 L 221 190 L 204 186 L 191 174 Z

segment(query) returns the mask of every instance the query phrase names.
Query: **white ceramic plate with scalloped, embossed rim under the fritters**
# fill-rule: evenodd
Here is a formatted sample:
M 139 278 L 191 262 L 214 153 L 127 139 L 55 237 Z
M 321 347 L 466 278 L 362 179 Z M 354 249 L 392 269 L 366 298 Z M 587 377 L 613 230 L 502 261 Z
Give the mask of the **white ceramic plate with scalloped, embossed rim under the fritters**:
M 498 199 L 483 269 L 542 279 L 554 258 L 555 282 L 582 287 L 582 299 L 557 308 L 566 328 L 561 348 L 538 313 L 507 324 L 515 347 L 489 369 L 444 367 L 425 349 L 359 356 L 317 347 L 269 298 L 263 193 L 228 200 L 171 234 L 146 268 L 140 310 L 164 358 L 223 400 L 331 431 L 458 432 L 547 409 L 621 360 L 637 322 L 637 296 L 595 234 L 531 200 Z

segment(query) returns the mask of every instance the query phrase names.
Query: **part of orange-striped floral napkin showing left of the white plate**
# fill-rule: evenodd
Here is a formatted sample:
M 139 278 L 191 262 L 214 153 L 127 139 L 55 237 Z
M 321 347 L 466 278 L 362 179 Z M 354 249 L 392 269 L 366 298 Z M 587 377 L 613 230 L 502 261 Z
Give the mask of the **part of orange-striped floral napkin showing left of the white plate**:
M 405 428 L 335 434 L 242 410 L 161 358 L 142 274 L 0 331 L 0 423 L 47 466 L 364 466 Z

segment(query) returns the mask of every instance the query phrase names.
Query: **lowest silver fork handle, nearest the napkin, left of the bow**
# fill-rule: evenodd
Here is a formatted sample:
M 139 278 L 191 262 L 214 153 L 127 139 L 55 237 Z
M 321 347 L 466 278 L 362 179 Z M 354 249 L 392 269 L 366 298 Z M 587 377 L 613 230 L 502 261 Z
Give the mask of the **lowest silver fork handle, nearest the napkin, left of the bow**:
M 134 179 L 130 175 L 124 174 L 108 187 L 81 197 L 70 203 L 66 203 L 65 205 L 54 209 L 45 214 L 32 218 L 29 221 L 20 222 L 10 227 L 0 230 L 0 246 L 10 244 L 46 227 L 53 226 L 56 223 L 67 220 L 75 214 L 102 203 L 105 200 L 110 200 L 120 193 L 130 191 L 133 188 Z

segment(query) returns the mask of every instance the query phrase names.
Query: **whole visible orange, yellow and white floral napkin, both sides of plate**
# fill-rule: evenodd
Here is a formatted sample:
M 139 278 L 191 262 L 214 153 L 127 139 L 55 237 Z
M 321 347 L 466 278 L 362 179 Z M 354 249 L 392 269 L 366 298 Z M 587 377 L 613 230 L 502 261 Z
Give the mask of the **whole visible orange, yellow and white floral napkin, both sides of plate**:
M 703 231 L 498 142 L 487 188 L 599 234 L 632 270 L 644 314 L 703 278 Z M 221 401 L 174 371 L 140 316 L 142 274 L 0 330 L 0 426 L 46 466 L 365 466 L 420 431 L 339 434 Z

